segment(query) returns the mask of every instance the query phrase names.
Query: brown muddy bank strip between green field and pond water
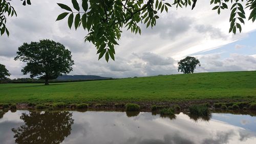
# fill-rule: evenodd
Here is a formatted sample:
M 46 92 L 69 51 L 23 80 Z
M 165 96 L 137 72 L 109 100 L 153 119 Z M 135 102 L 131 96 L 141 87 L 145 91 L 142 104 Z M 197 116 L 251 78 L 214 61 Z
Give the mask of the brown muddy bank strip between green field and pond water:
M 124 111 L 125 105 L 127 103 L 133 103 L 140 106 L 140 111 L 143 112 L 151 112 L 152 106 L 164 106 L 164 107 L 173 107 L 173 106 L 179 106 L 181 111 L 186 111 L 190 106 L 193 105 L 207 105 L 209 109 L 215 110 L 216 104 L 227 104 L 227 106 L 231 106 L 233 104 L 242 104 L 241 110 L 247 109 L 250 106 L 251 101 L 241 101 L 241 100 L 232 100 L 232 99 L 202 99 L 202 100 L 189 100 L 189 101 L 129 101 L 129 102 L 84 102 L 82 104 L 85 104 L 86 109 L 88 110 L 103 110 L 103 111 Z M 0 105 L 0 109 L 5 109 L 5 107 Z M 9 107 L 7 109 L 11 109 L 11 105 L 9 104 Z M 47 108 L 61 108 L 61 109 L 77 109 L 78 105 L 80 104 L 66 104 L 63 102 L 57 102 L 57 103 L 17 103 L 14 104 L 17 110 L 28 110 L 28 109 L 47 109 Z M 44 106 L 44 107 L 37 107 L 38 105 Z M 217 109 L 219 109 L 218 107 Z

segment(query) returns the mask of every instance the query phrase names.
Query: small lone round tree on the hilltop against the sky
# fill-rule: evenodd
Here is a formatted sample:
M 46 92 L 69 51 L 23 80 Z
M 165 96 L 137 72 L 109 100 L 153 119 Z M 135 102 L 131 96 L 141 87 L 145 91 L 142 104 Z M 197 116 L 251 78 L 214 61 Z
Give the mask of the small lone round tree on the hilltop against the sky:
M 194 73 L 196 66 L 200 65 L 200 61 L 196 57 L 187 56 L 184 59 L 181 59 L 178 63 L 178 71 L 183 73 Z

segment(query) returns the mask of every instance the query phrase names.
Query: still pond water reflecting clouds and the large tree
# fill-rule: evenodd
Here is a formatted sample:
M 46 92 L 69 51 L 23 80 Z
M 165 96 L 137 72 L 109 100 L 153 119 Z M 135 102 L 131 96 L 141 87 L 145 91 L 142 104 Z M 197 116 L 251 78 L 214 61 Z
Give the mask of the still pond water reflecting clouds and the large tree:
M 147 112 L 9 111 L 0 118 L 3 144 L 256 143 L 256 117 L 250 115 L 213 113 L 195 121 L 183 113 L 163 118 Z

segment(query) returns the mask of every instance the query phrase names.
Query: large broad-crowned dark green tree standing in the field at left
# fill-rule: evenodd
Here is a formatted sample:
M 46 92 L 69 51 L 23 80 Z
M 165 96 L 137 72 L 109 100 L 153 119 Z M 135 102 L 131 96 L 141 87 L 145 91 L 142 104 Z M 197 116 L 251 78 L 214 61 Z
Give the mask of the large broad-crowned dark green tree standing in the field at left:
M 40 76 L 45 79 L 45 85 L 49 85 L 49 79 L 55 79 L 62 73 L 72 71 L 74 61 L 71 59 L 71 51 L 53 40 L 45 39 L 40 42 L 24 43 L 18 48 L 15 60 L 27 62 L 22 69 L 23 74 L 30 73 L 30 77 Z

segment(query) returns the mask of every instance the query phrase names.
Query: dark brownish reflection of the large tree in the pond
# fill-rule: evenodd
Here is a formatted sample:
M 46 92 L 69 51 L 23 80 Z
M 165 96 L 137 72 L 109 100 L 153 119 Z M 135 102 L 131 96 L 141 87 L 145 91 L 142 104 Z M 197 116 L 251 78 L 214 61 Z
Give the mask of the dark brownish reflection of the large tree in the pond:
M 62 142 L 70 135 L 74 124 L 70 112 L 30 112 L 23 113 L 20 119 L 25 125 L 12 129 L 16 143 L 53 144 Z

